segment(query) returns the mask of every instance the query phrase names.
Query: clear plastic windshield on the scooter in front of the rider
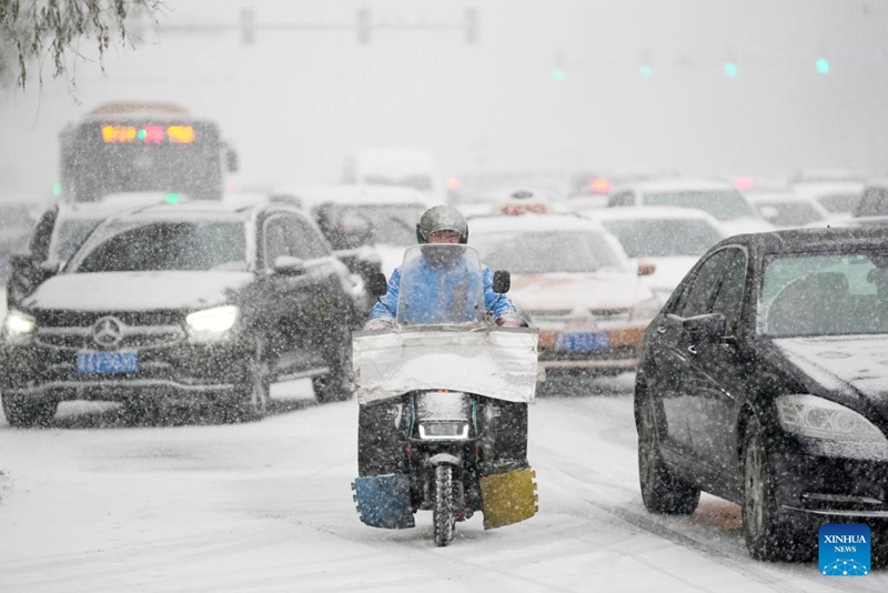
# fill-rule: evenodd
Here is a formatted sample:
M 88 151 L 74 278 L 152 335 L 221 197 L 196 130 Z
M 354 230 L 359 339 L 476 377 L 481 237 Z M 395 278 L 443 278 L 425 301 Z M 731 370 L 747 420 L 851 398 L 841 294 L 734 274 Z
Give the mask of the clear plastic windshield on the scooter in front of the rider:
M 404 254 L 397 323 L 434 325 L 484 321 L 484 282 L 474 248 L 452 243 L 414 245 Z

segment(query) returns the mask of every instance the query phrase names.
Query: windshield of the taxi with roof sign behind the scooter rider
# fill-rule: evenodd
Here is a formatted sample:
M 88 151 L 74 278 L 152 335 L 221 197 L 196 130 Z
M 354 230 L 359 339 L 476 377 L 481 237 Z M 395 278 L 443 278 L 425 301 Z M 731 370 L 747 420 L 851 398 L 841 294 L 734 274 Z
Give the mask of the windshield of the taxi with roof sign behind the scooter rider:
M 495 233 L 473 238 L 473 243 L 488 268 L 514 274 L 627 269 L 625 257 L 622 258 L 602 233 L 588 230 Z

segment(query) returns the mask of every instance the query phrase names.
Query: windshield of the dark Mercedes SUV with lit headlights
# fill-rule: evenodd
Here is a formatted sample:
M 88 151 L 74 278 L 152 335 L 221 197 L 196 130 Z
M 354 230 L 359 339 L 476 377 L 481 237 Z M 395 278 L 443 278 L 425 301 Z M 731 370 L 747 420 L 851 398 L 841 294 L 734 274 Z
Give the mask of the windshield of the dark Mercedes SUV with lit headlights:
M 152 221 L 123 228 L 84 249 L 75 257 L 74 272 L 246 269 L 241 222 Z

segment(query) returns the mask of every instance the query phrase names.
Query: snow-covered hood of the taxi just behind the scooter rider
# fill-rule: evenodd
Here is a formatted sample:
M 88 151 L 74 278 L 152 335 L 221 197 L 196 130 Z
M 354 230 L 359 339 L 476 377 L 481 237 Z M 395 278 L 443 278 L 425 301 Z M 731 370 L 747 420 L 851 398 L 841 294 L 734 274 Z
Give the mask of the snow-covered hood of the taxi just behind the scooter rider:
M 521 310 L 629 309 L 653 296 L 632 273 L 514 274 L 508 295 Z

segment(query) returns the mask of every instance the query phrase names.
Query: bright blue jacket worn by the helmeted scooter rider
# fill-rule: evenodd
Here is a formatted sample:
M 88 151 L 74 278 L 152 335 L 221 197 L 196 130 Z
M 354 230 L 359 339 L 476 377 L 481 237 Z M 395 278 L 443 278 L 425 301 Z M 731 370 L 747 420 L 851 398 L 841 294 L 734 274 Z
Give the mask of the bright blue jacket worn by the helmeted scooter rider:
M 411 269 L 415 274 L 410 279 L 408 287 L 412 294 L 405 294 L 405 301 L 412 304 L 412 310 L 403 312 L 407 322 L 413 323 L 444 323 L 447 319 L 464 316 L 472 319 L 473 302 L 466 303 L 465 294 L 476 294 L 475 287 L 457 287 L 461 279 L 466 274 L 460 270 L 461 263 L 456 269 L 441 269 L 431 265 L 424 259 L 416 260 L 417 265 Z M 464 264 L 463 264 L 464 265 Z M 389 287 L 385 294 L 380 296 L 380 301 L 370 310 L 370 319 L 395 318 L 397 302 L 401 290 L 401 268 L 396 268 L 389 279 Z M 471 278 L 471 275 L 470 275 Z M 477 278 L 475 275 L 475 278 Z M 493 272 L 486 265 L 482 265 L 482 282 L 484 283 L 484 308 L 493 312 L 494 318 L 503 315 L 517 315 L 515 305 L 506 294 L 498 294 L 493 291 Z M 462 300 L 461 296 L 462 295 Z M 458 311 L 463 309 L 463 311 Z

